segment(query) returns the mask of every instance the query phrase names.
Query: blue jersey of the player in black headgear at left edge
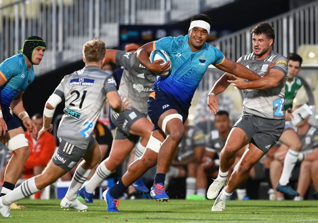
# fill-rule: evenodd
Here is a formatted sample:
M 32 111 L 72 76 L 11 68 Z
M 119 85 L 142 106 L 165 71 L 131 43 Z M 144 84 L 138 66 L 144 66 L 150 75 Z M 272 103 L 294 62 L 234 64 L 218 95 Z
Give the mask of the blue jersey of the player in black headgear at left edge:
M 34 80 L 33 66 L 28 70 L 24 55 L 19 53 L 0 64 L 0 75 L 6 83 L 0 87 L 0 103 L 10 106 L 15 96 L 24 92 Z

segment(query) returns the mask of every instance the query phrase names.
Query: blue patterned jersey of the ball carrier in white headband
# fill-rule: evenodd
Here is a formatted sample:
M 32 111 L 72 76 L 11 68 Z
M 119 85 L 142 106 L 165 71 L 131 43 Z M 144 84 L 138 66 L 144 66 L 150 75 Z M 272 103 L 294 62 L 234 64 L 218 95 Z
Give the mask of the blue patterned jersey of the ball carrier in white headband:
M 219 49 L 207 43 L 201 50 L 192 52 L 188 40 L 189 35 L 164 37 L 155 41 L 155 49 L 169 54 L 172 71 L 169 76 L 159 77 L 153 88 L 173 95 L 183 106 L 189 108 L 208 66 L 222 63 L 225 57 Z

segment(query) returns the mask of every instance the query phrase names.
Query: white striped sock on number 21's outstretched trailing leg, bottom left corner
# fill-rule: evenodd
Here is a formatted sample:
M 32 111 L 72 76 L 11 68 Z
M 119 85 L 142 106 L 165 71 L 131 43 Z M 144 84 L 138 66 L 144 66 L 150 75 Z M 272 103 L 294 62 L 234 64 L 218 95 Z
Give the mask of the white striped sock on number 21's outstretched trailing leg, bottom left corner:
M 2 197 L 3 203 L 5 205 L 10 205 L 13 202 L 16 202 L 17 200 L 29 197 L 30 195 L 35 194 L 39 191 L 40 190 L 38 190 L 37 186 L 35 185 L 35 177 L 32 177 L 24 181 L 20 186 L 15 188 L 10 193 L 4 195 Z

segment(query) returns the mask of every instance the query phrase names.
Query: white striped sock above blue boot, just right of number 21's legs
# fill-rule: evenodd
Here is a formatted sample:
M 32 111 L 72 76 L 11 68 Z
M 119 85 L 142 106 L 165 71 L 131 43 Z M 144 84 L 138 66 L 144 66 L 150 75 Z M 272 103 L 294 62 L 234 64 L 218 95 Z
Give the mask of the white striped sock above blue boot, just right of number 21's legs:
M 112 171 L 106 168 L 104 162 L 99 164 L 93 177 L 85 185 L 86 192 L 93 193 L 96 187 L 111 174 L 112 174 Z

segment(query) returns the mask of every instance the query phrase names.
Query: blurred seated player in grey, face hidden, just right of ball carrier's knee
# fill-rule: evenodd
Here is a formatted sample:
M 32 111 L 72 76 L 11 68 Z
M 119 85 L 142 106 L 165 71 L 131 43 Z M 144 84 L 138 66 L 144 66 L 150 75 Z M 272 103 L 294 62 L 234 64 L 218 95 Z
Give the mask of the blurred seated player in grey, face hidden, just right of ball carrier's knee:
M 185 198 L 189 199 L 196 193 L 197 168 L 203 156 L 205 138 L 203 131 L 190 126 L 188 120 L 184 123 L 184 129 L 184 137 L 179 143 L 176 158 L 166 174 L 165 185 L 168 188 L 171 178 L 187 177 Z

